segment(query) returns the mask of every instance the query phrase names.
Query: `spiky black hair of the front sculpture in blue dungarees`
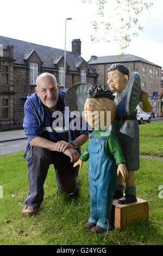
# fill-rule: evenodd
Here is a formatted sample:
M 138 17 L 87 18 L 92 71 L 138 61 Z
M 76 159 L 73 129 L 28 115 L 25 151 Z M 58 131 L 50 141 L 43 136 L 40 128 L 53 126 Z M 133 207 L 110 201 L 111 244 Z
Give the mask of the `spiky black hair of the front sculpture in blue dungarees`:
M 87 98 L 106 98 L 110 100 L 114 100 L 115 96 L 113 95 L 113 92 L 106 86 L 101 86 L 101 84 L 96 86 L 91 86 L 89 90 L 86 93 Z

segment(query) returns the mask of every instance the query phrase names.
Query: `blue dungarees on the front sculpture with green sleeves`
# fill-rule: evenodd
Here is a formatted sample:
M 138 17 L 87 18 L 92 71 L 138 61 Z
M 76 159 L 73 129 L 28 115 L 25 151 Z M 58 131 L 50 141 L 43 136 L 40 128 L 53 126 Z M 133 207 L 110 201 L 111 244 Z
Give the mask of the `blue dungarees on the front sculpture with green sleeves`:
M 112 196 L 117 181 L 117 166 L 114 157 L 104 153 L 106 137 L 93 138 L 89 142 L 89 192 L 90 223 L 104 230 L 111 229 Z M 108 227 L 108 222 L 109 227 Z

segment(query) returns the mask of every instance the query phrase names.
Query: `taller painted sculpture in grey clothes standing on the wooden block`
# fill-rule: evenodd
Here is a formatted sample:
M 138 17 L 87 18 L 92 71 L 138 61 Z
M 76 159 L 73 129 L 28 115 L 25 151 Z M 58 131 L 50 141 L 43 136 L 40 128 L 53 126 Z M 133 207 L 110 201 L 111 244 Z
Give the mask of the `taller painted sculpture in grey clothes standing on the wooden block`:
M 136 187 L 134 170 L 139 169 L 139 126 L 137 124 L 136 112 L 127 113 L 127 82 L 129 79 L 129 70 L 125 65 L 112 64 L 108 69 L 107 84 L 112 92 L 115 93 L 116 117 L 112 124 L 112 132 L 118 138 L 122 147 L 123 156 L 126 161 L 126 167 L 129 171 L 126 178 L 126 190 L 123 197 L 123 177 L 117 178 L 117 186 L 114 199 L 119 199 L 120 204 L 129 204 L 136 202 Z M 131 93 L 133 94 L 133 92 Z M 133 95 L 133 100 L 137 102 L 140 99 L 137 109 L 150 112 L 152 105 L 148 100 L 148 93 L 141 90 L 141 95 Z M 132 103 L 132 102 L 131 102 Z

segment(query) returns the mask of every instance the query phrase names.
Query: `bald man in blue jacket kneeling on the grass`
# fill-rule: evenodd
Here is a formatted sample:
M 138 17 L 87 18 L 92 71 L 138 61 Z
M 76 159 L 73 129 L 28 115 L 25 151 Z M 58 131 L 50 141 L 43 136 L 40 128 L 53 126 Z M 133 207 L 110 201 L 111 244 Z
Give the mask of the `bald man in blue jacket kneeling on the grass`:
M 29 194 L 23 208 L 24 216 L 37 214 L 43 201 L 43 184 L 50 164 L 54 164 L 59 192 L 78 193 L 77 169 L 79 147 L 87 141 L 87 131 L 70 130 L 69 112 L 65 109 L 65 92 L 59 92 L 56 78 L 49 73 L 37 77 L 35 93 L 24 105 L 23 127 L 29 145 Z M 57 125 L 59 123 L 59 126 Z M 77 149 L 77 150 L 76 150 Z

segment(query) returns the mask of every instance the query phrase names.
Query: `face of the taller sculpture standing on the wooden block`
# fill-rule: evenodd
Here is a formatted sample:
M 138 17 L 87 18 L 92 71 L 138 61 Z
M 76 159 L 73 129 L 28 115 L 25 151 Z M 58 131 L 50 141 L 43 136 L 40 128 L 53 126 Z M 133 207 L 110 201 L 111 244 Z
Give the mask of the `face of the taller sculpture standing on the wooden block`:
M 112 92 L 121 93 L 126 87 L 128 75 L 124 75 L 118 70 L 108 72 L 107 84 Z

